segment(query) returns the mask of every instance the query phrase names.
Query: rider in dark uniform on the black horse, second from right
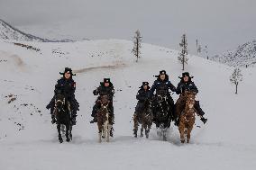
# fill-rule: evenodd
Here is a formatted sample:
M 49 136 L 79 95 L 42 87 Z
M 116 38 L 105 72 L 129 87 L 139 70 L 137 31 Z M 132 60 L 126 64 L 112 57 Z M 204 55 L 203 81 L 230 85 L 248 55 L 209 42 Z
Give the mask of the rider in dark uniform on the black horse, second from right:
M 157 96 L 167 96 L 167 102 L 169 103 L 169 106 L 171 107 L 171 112 L 172 114 L 174 114 L 175 112 L 175 105 L 174 105 L 174 101 L 172 99 L 172 97 L 169 94 L 169 89 L 172 92 L 176 92 L 176 87 L 174 85 L 172 85 L 169 81 L 169 76 L 166 74 L 165 70 L 161 70 L 160 71 L 160 75 L 157 76 L 157 80 L 155 80 L 154 84 L 151 86 L 151 90 L 150 90 L 150 97 L 153 95 L 154 91 L 156 90 L 156 98 Z M 153 100 L 153 105 L 156 101 Z M 155 115 L 154 115 L 155 117 Z

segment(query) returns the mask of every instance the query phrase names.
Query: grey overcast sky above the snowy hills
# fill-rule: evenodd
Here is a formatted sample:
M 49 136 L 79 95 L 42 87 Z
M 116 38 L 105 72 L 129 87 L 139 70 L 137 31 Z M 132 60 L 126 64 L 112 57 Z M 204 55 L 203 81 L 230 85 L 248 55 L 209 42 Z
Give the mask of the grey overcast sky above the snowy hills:
M 0 18 L 49 39 L 125 39 L 178 49 L 187 33 L 212 55 L 256 39 L 256 0 L 0 0 Z

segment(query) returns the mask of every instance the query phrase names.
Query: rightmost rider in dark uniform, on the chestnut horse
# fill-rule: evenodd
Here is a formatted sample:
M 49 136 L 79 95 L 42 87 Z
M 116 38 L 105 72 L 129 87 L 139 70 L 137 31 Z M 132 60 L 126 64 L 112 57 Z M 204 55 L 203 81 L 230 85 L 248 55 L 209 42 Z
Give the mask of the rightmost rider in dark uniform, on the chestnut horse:
M 189 76 L 188 72 L 182 73 L 182 77 L 179 77 L 179 78 L 180 78 L 180 82 L 178 83 L 177 91 L 176 91 L 176 94 L 180 94 L 176 103 L 177 117 L 178 117 L 178 114 L 185 108 L 185 104 L 186 104 L 186 98 L 184 95 L 185 91 L 195 92 L 196 94 L 198 93 L 197 86 L 191 80 L 193 76 Z M 200 120 L 206 123 L 207 119 L 203 117 L 205 112 L 201 109 L 199 101 L 196 101 L 195 109 L 197 110 L 197 113 L 201 117 Z M 176 119 L 176 124 L 178 125 L 178 119 Z

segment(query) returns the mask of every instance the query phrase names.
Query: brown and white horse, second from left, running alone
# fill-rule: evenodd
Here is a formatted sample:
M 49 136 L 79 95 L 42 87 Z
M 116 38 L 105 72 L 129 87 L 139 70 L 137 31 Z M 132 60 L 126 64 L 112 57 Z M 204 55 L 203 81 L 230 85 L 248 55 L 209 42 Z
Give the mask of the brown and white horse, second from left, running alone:
M 101 95 L 99 103 L 100 108 L 96 112 L 97 116 L 97 127 L 98 127 L 98 141 L 102 142 L 102 139 L 106 138 L 106 142 L 109 142 L 110 130 L 112 125 L 110 124 L 110 113 L 108 111 L 108 104 L 110 103 L 107 95 Z

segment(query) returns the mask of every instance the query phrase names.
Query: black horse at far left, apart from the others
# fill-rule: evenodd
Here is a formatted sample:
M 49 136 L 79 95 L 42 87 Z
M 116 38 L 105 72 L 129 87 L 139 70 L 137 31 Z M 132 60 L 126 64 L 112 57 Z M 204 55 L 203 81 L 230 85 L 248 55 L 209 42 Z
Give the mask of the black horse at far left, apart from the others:
M 69 142 L 72 139 L 72 124 L 70 118 L 70 104 L 66 100 L 65 94 L 60 91 L 55 95 L 55 105 L 53 114 L 56 119 L 57 130 L 59 134 L 59 143 L 63 142 L 60 131 L 63 130 L 63 125 L 66 127 L 66 141 Z M 60 130 L 61 129 L 61 130 Z

